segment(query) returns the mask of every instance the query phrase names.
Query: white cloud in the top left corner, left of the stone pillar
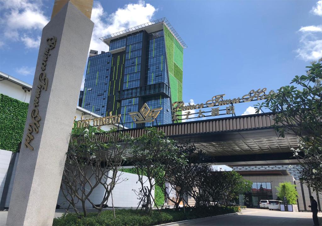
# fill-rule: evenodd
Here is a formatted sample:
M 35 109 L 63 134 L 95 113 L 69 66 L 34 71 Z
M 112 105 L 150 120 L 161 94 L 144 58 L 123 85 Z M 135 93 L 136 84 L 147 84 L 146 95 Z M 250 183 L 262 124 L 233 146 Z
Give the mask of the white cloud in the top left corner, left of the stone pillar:
M 38 36 L 49 21 L 49 18 L 41 10 L 42 6 L 43 2 L 39 0 L 1 1 L 3 39 L 23 41 L 27 48 L 38 47 Z

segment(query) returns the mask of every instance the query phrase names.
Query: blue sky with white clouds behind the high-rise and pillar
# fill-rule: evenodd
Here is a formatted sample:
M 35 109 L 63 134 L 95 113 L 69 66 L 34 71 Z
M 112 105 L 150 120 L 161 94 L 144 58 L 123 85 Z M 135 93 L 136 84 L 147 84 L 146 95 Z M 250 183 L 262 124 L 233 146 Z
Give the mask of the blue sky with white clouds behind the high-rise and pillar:
M 0 70 L 32 83 L 53 1 L 1 1 Z M 98 38 L 166 17 L 188 45 L 183 98 L 241 97 L 288 85 L 322 56 L 322 1 L 94 1 L 91 49 Z M 255 102 L 236 104 L 241 115 Z M 252 109 L 249 108 L 250 113 Z

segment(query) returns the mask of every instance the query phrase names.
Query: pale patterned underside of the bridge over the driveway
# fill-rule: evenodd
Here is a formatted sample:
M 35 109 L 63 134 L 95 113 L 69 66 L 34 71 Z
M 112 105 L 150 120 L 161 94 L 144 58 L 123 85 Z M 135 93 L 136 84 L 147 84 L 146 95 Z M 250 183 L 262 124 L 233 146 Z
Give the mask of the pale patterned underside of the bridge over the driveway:
M 181 143 L 194 143 L 206 153 L 205 161 L 215 164 L 298 164 L 290 150 L 298 147 L 297 137 L 279 137 L 272 128 L 170 137 Z

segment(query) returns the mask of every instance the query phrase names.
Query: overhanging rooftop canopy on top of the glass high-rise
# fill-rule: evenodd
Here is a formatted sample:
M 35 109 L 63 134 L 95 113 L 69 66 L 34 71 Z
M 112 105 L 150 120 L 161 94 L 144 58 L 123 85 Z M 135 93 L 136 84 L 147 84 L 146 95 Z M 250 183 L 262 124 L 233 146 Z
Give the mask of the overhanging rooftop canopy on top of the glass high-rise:
M 163 17 L 158 20 L 150 21 L 148 23 L 144 23 L 129 29 L 125 29 L 124 31 L 116 32 L 113 34 L 109 34 L 107 36 L 104 36 L 100 38 L 105 44 L 109 46 L 109 43 L 112 39 L 115 38 L 121 38 L 128 34 L 139 32 L 142 30 L 146 30 L 148 33 L 156 32 L 159 30 L 162 30 L 162 24 L 166 25 L 166 27 L 170 30 L 170 32 L 175 36 L 175 39 L 180 43 L 180 45 L 183 48 L 187 48 L 188 46 L 185 44 L 185 42 L 182 40 L 182 38 L 179 36 L 179 34 L 175 31 L 175 29 L 172 27 L 170 22 L 166 19 L 166 17 Z

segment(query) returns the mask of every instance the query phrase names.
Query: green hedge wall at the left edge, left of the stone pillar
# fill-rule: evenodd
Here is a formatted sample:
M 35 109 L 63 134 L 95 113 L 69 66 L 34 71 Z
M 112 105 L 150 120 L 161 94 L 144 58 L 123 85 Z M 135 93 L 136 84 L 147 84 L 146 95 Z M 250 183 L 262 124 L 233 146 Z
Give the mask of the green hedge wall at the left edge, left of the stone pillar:
M 24 135 L 28 105 L 0 94 L 0 149 L 17 152 Z

